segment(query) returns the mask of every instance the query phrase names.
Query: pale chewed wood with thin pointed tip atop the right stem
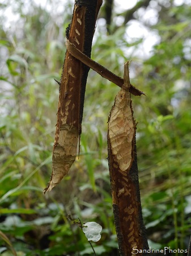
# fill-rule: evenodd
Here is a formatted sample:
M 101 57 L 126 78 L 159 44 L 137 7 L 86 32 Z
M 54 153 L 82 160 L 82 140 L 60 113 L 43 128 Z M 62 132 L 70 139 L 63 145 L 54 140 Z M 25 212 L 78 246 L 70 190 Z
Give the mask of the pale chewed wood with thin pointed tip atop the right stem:
M 126 171 L 133 162 L 133 140 L 135 135 L 135 121 L 130 99 L 129 63 L 124 65 L 125 89 L 117 94 L 111 110 L 108 132 L 114 160 L 120 171 Z

